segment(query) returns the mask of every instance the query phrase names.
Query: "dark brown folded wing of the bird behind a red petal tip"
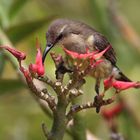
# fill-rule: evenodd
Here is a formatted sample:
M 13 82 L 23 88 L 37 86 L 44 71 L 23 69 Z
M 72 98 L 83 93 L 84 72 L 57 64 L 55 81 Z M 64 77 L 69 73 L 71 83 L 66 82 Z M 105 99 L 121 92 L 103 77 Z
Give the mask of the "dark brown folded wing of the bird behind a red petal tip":
M 108 46 L 110 46 L 110 49 L 104 54 L 104 57 L 108 59 L 113 65 L 116 64 L 116 54 L 114 52 L 114 49 L 112 48 L 111 44 L 108 42 L 108 40 L 100 33 L 95 32 L 94 33 L 94 45 L 97 50 L 103 51 Z

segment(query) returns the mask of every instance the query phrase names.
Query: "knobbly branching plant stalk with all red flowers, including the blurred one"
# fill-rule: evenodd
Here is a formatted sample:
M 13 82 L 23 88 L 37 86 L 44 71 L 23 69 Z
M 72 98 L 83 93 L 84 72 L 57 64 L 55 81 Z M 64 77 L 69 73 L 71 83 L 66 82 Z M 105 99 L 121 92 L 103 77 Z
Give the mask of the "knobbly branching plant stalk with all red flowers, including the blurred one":
M 87 50 L 86 54 L 77 54 L 71 51 L 64 49 L 65 53 L 73 57 L 75 60 L 78 60 L 74 63 L 74 68 L 71 70 L 67 67 L 68 64 L 65 58 L 62 55 L 56 55 L 51 53 L 51 57 L 54 61 L 56 67 L 56 81 L 52 81 L 47 75 L 45 75 L 45 68 L 42 63 L 42 52 L 39 42 L 36 42 L 37 54 L 35 63 L 31 63 L 28 69 L 24 68 L 22 61 L 25 60 L 26 55 L 23 52 L 20 52 L 14 48 L 7 46 L 0 46 L 0 48 L 9 51 L 14 57 L 17 58 L 19 62 L 19 69 L 26 79 L 26 83 L 29 89 L 34 93 L 36 98 L 43 100 L 48 104 L 48 107 L 52 111 L 53 124 L 51 130 L 48 130 L 45 124 L 42 125 L 42 129 L 45 137 L 48 140 L 62 140 L 64 133 L 67 129 L 68 123 L 75 118 L 75 115 L 79 111 L 95 108 L 98 113 L 102 106 L 109 105 L 114 102 L 114 96 L 108 99 L 104 99 L 104 92 L 110 88 L 115 88 L 117 92 L 126 90 L 129 88 L 139 88 L 139 82 L 122 82 L 117 81 L 113 76 L 104 80 L 104 89 L 103 93 L 95 96 L 93 101 L 89 101 L 84 104 L 78 104 L 73 102 L 79 96 L 84 94 L 81 87 L 85 84 L 85 77 L 100 63 L 103 62 L 101 59 L 103 54 L 109 50 L 110 46 L 102 52 L 93 52 L 90 53 Z M 84 59 L 88 60 L 88 65 L 85 65 Z M 84 67 L 84 69 L 82 69 Z M 70 73 L 70 79 L 67 84 L 63 83 L 63 78 L 65 73 Z M 56 93 L 56 96 L 53 96 L 48 92 L 47 88 L 40 90 L 34 84 L 33 79 L 38 79 L 43 83 L 49 85 Z M 70 108 L 68 108 L 70 106 Z M 118 106 L 111 111 L 103 113 L 104 118 L 111 120 L 117 113 L 120 112 L 122 106 Z

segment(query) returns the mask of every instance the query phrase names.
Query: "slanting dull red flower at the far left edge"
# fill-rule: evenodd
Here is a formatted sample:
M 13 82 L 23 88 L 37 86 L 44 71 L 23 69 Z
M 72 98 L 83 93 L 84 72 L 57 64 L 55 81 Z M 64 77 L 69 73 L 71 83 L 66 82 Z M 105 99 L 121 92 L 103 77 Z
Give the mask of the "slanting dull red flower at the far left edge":
M 12 55 L 14 55 L 18 60 L 24 60 L 26 58 L 26 54 L 23 52 L 20 52 L 16 50 L 15 48 L 10 48 L 8 46 L 0 46 L 0 48 L 6 49 L 9 51 Z

